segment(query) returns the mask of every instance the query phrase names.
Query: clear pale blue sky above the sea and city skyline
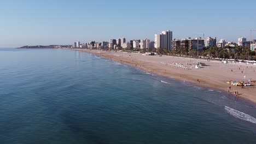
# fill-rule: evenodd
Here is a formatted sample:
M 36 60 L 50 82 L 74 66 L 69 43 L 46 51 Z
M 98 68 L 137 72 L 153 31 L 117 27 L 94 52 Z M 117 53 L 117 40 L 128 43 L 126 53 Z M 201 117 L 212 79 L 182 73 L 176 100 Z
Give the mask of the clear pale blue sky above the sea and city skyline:
M 0 47 L 154 40 L 167 30 L 176 39 L 205 34 L 237 42 L 250 39 L 255 14 L 255 0 L 0 0 Z

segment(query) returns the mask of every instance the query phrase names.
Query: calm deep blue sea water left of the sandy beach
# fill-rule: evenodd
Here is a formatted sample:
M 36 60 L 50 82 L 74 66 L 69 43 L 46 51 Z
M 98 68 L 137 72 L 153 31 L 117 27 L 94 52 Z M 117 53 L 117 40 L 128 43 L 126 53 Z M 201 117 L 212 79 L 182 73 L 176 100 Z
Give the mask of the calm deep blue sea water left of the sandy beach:
M 62 49 L 0 49 L 0 143 L 256 143 L 226 93 Z

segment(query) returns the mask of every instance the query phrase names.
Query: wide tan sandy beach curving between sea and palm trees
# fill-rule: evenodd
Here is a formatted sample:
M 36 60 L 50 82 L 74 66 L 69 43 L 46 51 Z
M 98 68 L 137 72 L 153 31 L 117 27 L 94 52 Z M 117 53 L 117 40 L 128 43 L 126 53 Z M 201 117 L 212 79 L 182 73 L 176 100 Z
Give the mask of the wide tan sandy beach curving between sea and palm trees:
M 228 87 L 231 86 L 227 81 L 245 81 L 256 80 L 256 65 L 244 63 L 223 64 L 219 61 L 206 61 L 205 59 L 182 58 L 172 56 L 143 56 L 142 53 L 127 52 L 107 52 L 100 50 L 71 49 L 82 52 L 94 53 L 98 56 L 106 57 L 148 71 L 149 73 L 177 79 L 185 82 L 194 83 L 201 87 L 211 87 L 222 89 L 228 93 Z M 193 62 L 202 62 L 206 66 L 195 69 L 190 64 Z M 183 64 L 188 69 L 170 67 L 166 64 Z M 200 82 L 198 82 L 199 80 Z M 256 85 L 256 83 L 252 83 Z M 256 104 L 256 87 L 248 86 L 245 88 L 231 86 L 230 95 L 235 91 L 239 92 L 238 98 L 242 98 Z

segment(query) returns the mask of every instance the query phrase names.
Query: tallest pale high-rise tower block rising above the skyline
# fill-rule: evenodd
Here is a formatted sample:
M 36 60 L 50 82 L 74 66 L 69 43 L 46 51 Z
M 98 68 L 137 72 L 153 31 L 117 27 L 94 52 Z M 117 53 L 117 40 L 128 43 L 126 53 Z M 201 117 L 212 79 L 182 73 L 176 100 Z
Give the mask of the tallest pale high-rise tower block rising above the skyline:
M 161 34 L 155 34 L 155 48 L 172 49 L 172 32 L 163 31 Z

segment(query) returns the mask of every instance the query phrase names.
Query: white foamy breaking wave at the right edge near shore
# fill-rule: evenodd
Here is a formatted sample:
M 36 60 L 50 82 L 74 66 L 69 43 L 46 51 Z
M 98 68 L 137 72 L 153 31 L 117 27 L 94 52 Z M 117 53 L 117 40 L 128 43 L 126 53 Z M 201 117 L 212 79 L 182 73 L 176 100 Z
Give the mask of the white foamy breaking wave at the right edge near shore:
M 235 109 L 232 109 L 228 106 L 225 106 L 225 110 L 226 112 L 228 112 L 231 116 L 234 116 L 236 118 L 239 118 L 239 119 L 243 119 L 247 122 L 251 122 L 251 123 L 255 123 L 256 124 L 256 118 L 246 114 L 246 113 L 243 113 L 241 111 L 237 111 Z

